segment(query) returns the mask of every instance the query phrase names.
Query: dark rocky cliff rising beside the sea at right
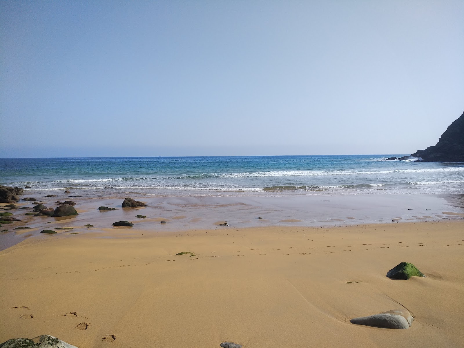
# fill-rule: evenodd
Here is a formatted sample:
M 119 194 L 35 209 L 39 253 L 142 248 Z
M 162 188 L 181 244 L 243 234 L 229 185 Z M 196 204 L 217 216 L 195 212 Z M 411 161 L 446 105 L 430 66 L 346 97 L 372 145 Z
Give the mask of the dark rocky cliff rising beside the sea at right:
M 464 162 L 464 112 L 450 124 L 437 145 L 417 150 L 411 156 L 421 158 L 421 162 Z

